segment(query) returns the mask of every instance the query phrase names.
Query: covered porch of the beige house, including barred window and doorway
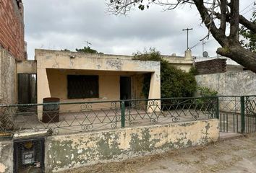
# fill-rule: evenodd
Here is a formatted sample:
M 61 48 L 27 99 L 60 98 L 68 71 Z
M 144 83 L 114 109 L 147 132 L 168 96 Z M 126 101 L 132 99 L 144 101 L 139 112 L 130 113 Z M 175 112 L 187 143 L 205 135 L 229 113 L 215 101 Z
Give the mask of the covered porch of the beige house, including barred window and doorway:
M 60 102 L 141 99 L 144 74 L 151 75 L 146 99 L 161 97 L 158 61 L 135 61 L 124 56 L 55 50 L 35 50 L 35 59 L 38 104 L 47 97 L 57 97 Z M 79 110 L 61 105 L 60 110 L 66 109 Z M 38 107 L 38 118 L 42 120 L 40 112 L 42 107 Z

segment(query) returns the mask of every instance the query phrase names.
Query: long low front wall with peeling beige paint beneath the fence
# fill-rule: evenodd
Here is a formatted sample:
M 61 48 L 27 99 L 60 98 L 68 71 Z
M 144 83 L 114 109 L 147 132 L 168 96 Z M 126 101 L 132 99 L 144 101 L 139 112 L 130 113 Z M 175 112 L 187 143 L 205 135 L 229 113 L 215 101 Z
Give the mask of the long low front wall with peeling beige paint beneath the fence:
M 46 172 L 205 145 L 218 137 L 218 120 L 51 136 L 46 138 Z

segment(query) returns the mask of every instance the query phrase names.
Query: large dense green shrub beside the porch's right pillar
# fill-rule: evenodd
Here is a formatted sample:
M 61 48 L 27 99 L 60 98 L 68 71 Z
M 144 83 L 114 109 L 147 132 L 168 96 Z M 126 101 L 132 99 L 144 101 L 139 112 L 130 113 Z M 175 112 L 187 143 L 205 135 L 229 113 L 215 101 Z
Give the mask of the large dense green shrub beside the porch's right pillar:
M 197 89 L 197 82 L 192 72 L 185 72 L 164 60 L 161 54 L 155 49 L 144 53 L 137 52 L 135 60 L 160 61 L 161 63 L 161 98 L 171 97 L 192 97 Z M 148 98 L 150 88 L 150 74 L 145 74 L 142 92 Z

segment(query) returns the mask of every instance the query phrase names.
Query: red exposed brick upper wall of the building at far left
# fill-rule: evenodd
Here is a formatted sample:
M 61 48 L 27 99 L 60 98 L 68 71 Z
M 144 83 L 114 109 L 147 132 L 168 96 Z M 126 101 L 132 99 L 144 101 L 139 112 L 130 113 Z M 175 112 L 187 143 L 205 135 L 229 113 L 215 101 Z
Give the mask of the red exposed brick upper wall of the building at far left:
M 22 0 L 0 1 L 0 45 L 17 60 L 25 59 Z

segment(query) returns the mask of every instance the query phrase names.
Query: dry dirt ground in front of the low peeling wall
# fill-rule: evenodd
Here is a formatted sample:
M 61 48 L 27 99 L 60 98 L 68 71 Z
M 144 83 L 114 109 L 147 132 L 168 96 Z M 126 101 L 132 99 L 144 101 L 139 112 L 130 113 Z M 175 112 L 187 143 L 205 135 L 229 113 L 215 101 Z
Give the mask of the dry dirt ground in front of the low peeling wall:
M 256 134 L 67 172 L 256 172 Z

